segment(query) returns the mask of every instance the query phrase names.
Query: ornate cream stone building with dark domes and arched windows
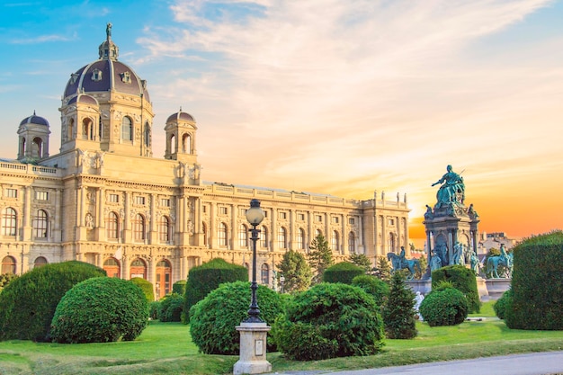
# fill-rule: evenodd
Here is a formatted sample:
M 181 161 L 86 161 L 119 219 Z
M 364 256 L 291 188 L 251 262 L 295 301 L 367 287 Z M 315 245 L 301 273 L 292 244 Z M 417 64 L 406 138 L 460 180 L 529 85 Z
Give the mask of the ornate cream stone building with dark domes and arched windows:
M 283 253 L 307 253 L 317 233 L 341 260 L 362 253 L 375 262 L 408 248 L 406 197 L 359 201 L 204 182 L 197 123 L 182 110 L 165 121 L 165 158 L 153 157 L 147 82 L 118 57 L 108 28 L 99 58 L 70 76 L 57 155 L 49 156 L 49 122 L 34 113 L 17 130 L 17 160 L 0 160 L 2 272 L 80 260 L 110 276 L 146 278 L 163 296 L 211 258 L 251 263 L 251 199 L 266 213 L 257 258 L 264 284 Z

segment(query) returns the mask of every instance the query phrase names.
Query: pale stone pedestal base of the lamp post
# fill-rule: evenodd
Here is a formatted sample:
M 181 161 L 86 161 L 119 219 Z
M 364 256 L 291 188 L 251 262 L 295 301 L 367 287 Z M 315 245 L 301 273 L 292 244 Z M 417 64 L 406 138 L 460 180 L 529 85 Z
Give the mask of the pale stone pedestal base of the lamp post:
M 262 374 L 272 371 L 272 363 L 266 361 L 266 336 L 271 327 L 265 323 L 241 323 L 240 359 L 235 363 L 234 375 Z

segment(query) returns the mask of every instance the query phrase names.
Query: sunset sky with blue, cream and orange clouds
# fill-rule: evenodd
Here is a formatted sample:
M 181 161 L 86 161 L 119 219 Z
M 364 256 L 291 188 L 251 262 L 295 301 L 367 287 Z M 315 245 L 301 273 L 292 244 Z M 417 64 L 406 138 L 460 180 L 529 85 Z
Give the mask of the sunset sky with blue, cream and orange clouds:
M 0 4 L 0 156 L 33 111 L 60 147 L 68 77 L 105 25 L 148 82 L 153 151 L 182 107 L 202 178 L 366 200 L 407 193 L 410 235 L 453 165 L 480 230 L 563 228 L 563 1 Z

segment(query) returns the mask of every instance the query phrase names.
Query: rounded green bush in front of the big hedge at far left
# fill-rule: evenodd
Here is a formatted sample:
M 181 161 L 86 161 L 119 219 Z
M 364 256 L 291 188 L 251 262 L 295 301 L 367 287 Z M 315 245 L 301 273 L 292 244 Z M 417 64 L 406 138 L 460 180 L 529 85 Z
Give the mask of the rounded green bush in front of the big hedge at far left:
M 59 344 L 135 340 L 147 326 L 148 303 L 134 283 L 96 277 L 76 284 L 60 300 L 51 322 Z

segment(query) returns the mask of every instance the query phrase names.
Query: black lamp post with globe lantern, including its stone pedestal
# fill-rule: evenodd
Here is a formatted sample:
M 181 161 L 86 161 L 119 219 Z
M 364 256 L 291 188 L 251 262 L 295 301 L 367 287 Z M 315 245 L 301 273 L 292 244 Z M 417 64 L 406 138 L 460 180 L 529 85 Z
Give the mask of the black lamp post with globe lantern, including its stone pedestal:
M 266 338 L 270 327 L 260 318 L 260 309 L 256 301 L 256 241 L 258 241 L 258 225 L 264 220 L 264 211 L 260 201 L 250 201 L 250 209 L 246 210 L 246 219 L 252 225 L 252 301 L 248 309 L 248 317 L 237 326 L 240 333 L 240 359 L 233 367 L 234 375 L 262 374 L 272 371 L 272 363 L 266 360 Z

